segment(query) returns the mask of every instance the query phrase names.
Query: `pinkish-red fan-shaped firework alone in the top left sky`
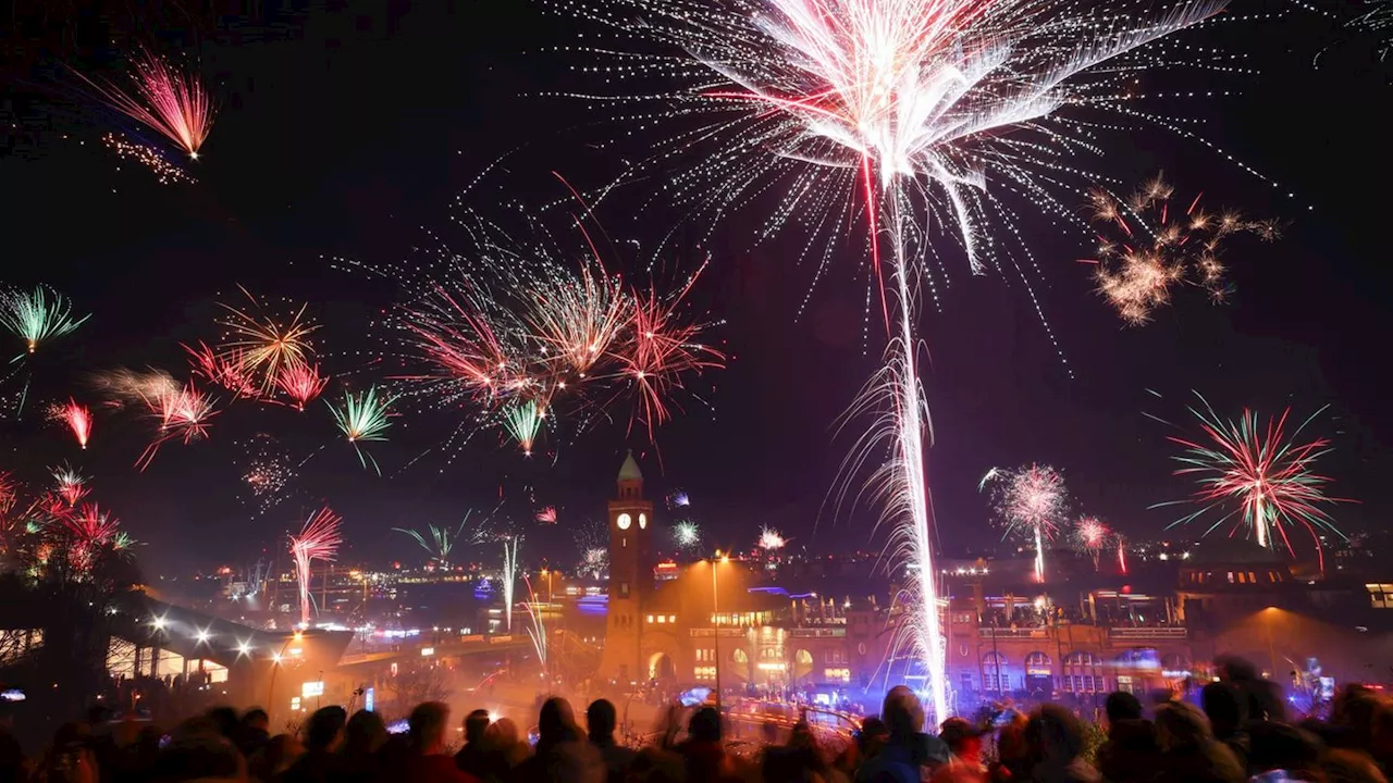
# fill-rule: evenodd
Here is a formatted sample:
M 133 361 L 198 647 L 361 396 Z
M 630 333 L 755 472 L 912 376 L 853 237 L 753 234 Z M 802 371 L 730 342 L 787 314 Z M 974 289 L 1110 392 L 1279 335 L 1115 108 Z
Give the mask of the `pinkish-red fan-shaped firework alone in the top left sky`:
M 145 49 L 137 50 L 131 63 L 135 67 L 135 95 L 74 72 L 95 88 L 107 106 L 159 132 L 196 160 L 213 127 L 213 102 L 198 74 L 178 71 Z

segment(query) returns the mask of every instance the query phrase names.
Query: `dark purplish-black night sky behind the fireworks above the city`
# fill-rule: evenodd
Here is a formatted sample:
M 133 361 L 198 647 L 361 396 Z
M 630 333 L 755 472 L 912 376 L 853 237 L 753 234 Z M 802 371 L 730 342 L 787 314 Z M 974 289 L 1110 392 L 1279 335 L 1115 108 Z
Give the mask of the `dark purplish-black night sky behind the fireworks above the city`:
M 465 249 L 451 202 L 506 153 L 492 189 L 469 202 L 485 213 L 493 196 L 478 192 L 550 202 L 564 198 L 552 170 L 582 187 L 616 171 L 613 153 L 593 146 L 614 137 L 613 127 L 598 127 L 599 114 L 579 102 L 539 96 L 575 84 L 567 74 L 574 61 L 549 52 L 574 31 L 518 0 L 267 3 L 256 17 L 173 4 L 150 13 L 135 3 L 22 3 L 10 22 L 0 279 L 49 283 L 93 312 L 35 359 L 31 404 L 70 393 L 95 401 L 92 375 L 120 365 L 182 375 L 178 343 L 212 339 L 215 302 L 233 301 L 238 283 L 308 301 L 323 323 L 327 369 L 371 378 L 362 358 L 373 350 L 369 325 L 396 291 L 330 270 L 326 256 L 403 259 L 428 231 Z M 1028 461 L 1063 470 L 1080 510 L 1133 538 L 1162 536 L 1177 514 L 1146 507 L 1191 488 L 1170 476 L 1170 431 L 1142 411 L 1183 422 L 1191 389 L 1233 415 L 1290 404 L 1304 417 L 1329 404 L 1314 433 L 1332 437 L 1337 451 L 1322 467 L 1337 479 L 1334 495 L 1361 500 L 1334 509 L 1340 525 L 1380 525 L 1393 509 L 1393 457 L 1383 447 L 1393 437 L 1383 404 L 1393 164 L 1379 117 L 1393 63 L 1379 63 L 1372 42 L 1309 14 L 1194 39 L 1244 47 L 1263 74 L 1224 79 L 1224 89 L 1243 89 L 1238 96 L 1155 107 L 1204 120 L 1204 138 L 1280 189 L 1163 134 L 1109 137 L 1100 167 L 1133 183 L 1165 169 L 1177 192 L 1204 191 L 1206 203 L 1279 219 L 1286 234 L 1275 244 L 1230 241 L 1231 302 L 1211 307 L 1201 291 L 1181 291 L 1152 325 L 1127 329 L 1092 294 L 1091 268 L 1075 262 L 1089 256 L 1089 238 L 1025 220 L 1043 270 L 1036 293 L 1067 365 L 1020 280 L 970 277 L 949 255 L 953 287 L 942 309 L 925 308 L 921 319 L 937 442 L 931 481 L 949 553 L 999 541 L 976 482 L 992 465 Z M 135 42 L 195 54 L 213 85 L 219 116 L 195 185 L 163 187 L 142 167 L 118 167 L 96 144 L 106 117 L 74 96 L 61 70 L 68 63 L 116 77 L 120 52 Z M 1158 78 L 1201 89 L 1215 77 Z M 638 215 L 642 184 L 630 191 L 599 215 L 618 247 L 651 242 L 669 227 Z M 93 497 L 146 542 L 141 557 L 150 573 L 279 550 L 284 531 L 320 500 L 345 518 L 344 559 L 415 559 L 414 545 L 390 527 L 457 524 L 465 509 L 497 504 L 500 489 L 532 553 L 564 560 L 571 528 L 603 514 L 625 447 L 642 454 L 651 495 L 677 486 L 691 495 L 713 546 L 748 546 L 758 525 L 772 524 L 795 548 L 879 549 L 882 539 L 866 534 L 873 509 L 837 514 L 823 504 L 850 447 L 834 437 L 837 415 L 882 347 L 873 322 L 869 341 L 862 337 L 861 255 L 848 244 L 844 263 L 798 318 L 812 276 L 788 262 L 797 237 L 756 245 L 749 224 L 737 217 L 717 230 L 712 268 L 692 294 L 726 322 L 713 334 L 733 355 L 729 369 L 706 379 L 717 385 L 715 414 L 684 404 L 685 414 L 659 431 L 659 450 L 616 424 L 561 444 L 554 465 L 524 460 L 490 435 L 450 465 L 426 454 L 407 467 L 453 419 L 404 417 L 390 443 L 372 447 L 384 472 L 378 478 L 361 470 L 322 404 L 305 414 L 241 404 L 215 419 L 209 442 L 166 446 L 143 474 L 131 464 L 146 422 L 102 412 L 89 451 L 78 453 L 31 412 L 0 424 L 0 468 L 39 482 L 63 458 L 82 465 L 95 478 Z M 249 518 L 234 460 L 235 443 L 256 432 L 299 454 L 325 449 L 286 504 Z M 560 509 L 556 535 L 524 517 L 543 504 Z

